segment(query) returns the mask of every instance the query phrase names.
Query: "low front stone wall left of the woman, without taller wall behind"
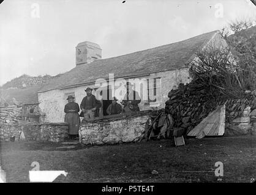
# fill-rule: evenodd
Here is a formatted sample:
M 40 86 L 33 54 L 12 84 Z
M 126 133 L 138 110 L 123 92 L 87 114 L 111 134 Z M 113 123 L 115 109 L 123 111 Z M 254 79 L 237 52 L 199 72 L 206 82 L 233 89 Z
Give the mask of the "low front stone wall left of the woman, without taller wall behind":
M 20 140 L 20 133 L 23 131 L 26 140 L 38 141 L 64 141 L 68 136 L 68 125 L 66 122 L 25 124 L 25 125 L 4 125 L 0 127 L 0 140 Z

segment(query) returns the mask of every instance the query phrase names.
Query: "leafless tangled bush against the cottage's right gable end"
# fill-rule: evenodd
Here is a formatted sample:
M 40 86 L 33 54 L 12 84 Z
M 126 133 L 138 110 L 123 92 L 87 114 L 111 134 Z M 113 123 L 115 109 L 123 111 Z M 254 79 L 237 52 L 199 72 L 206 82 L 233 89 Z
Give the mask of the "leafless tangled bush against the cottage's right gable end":
M 239 98 L 244 92 L 243 71 L 227 46 L 209 45 L 196 53 L 190 73 L 205 88 L 216 89 L 227 97 Z

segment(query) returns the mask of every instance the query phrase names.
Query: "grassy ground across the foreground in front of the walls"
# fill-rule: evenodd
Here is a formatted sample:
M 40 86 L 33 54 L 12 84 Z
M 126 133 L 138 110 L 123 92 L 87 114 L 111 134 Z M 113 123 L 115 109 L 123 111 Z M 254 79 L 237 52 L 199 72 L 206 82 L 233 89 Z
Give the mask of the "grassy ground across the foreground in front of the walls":
M 78 144 L 75 149 L 59 150 L 58 146 L 39 141 L 2 142 L 1 164 L 7 182 L 29 182 L 32 161 L 39 162 L 41 171 L 68 172 L 55 182 L 217 182 L 216 161 L 224 164 L 222 182 L 256 179 L 256 136 L 190 139 L 179 147 L 171 140 Z

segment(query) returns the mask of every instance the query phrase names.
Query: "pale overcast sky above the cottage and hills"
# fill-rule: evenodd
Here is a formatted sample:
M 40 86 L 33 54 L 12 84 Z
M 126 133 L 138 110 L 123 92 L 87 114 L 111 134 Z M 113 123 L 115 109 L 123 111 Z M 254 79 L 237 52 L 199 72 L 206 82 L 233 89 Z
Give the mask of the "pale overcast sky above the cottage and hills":
M 75 67 L 75 46 L 92 41 L 115 57 L 256 18 L 249 0 L 6 0 L 0 4 L 0 85 Z M 223 12 L 222 12 L 223 8 Z

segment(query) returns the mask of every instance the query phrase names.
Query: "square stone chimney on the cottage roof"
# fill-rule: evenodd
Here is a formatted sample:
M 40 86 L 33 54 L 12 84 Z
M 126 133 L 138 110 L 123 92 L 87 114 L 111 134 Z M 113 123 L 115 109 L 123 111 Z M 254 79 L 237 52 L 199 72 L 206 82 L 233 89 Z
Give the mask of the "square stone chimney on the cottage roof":
M 101 59 L 101 49 L 99 44 L 85 41 L 78 43 L 75 48 L 75 64 L 83 65 Z

